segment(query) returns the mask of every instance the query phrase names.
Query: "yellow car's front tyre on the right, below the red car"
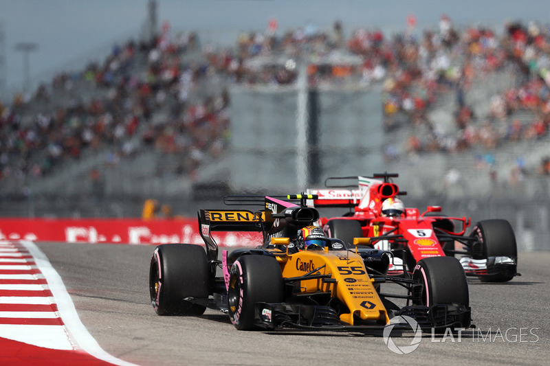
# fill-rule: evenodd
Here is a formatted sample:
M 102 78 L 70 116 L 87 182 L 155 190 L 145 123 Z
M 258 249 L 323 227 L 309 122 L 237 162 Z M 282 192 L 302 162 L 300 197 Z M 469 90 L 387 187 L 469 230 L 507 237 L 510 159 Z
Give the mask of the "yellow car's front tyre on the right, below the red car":
M 415 305 L 470 305 L 466 275 L 456 258 L 432 257 L 419 260 L 412 272 L 412 279 L 423 284 L 421 297 L 416 297 Z

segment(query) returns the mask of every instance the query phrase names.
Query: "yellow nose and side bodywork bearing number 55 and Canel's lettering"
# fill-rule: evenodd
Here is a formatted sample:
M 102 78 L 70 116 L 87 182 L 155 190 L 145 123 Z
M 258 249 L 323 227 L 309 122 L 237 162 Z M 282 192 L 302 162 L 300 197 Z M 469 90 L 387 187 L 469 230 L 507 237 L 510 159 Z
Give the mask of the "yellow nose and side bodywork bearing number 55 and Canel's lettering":
M 287 245 L 288 238 L 274 238 L 272 244 Z M 283 249 L 285 250 L 285 249 Z M 366 273 L 363 260 L 353 251 L 320 250 L 299 251 L 278 255 L 283 278 L 300 277 L 314 271 L 322 275 L 330 274 L 336 282 L 324 279 L 305 279 L 295 282 L 294 295 L 308 293 L 331 293 L 347 305 L 350 312 L 340 314 L 340 320 L 353 325 L 354 316 L 366 321 L 386 324 L 390 321 L 388 312 L 373 285 L 373 279 Z

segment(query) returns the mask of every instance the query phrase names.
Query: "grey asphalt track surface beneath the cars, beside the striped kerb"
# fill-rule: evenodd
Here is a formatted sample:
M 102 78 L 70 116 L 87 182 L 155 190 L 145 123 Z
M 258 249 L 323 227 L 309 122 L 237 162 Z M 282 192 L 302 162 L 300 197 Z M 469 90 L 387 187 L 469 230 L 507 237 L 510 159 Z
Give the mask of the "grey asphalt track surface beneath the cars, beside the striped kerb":
M 43 242 L 80 320 L 104 351 L 136 365 L 550 365 L 550 252 L 520 253 L 505 284 L 470 278 L 475 329 L 396 354 L 382 334 L 241 332 L 226 314 L 159 317 L 148 295 L 153 246 Z M 411 345 L 413 332 L 391 340 Z

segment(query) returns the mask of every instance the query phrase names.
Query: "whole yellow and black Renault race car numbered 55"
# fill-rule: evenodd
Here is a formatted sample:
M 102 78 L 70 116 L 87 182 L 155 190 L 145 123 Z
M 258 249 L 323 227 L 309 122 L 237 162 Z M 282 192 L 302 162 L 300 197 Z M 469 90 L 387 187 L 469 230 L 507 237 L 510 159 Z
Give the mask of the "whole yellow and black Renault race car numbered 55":
M 162 244 L 153 252 L 149 288 L 157 314 L 199 316 L 218 309 L 239 330 L 382 330 L 398 315 L 421 328 L 470 327 L 458 260 L 426 258 L 412 275 L 395 277 L 387 275 L 391 252 L 373 249 L 369 238 L 355 238 L 353 249 L 338 238 L 299 247 L 298 232 L 319 219 L 307 199 L 314 197 L 228 196 L 226 205 L 261 209 L 201 209 L 206 251 L 196 244 Z M 212 231 L 256 231 L 262 241 L 252 249 L 223 250 L 220 260 Z M 386 293 L 389 283 L 402 293 Z

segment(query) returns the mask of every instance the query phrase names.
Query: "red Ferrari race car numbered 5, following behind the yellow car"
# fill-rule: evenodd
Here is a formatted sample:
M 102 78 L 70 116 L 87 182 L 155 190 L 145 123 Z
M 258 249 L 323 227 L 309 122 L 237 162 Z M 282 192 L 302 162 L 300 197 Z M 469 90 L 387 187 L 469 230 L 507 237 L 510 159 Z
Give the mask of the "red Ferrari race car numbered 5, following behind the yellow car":
M 507 220 L 481 220 L 466 234 L 470 218 L 440 214 L 440 206 L 426 211 L 405 207 L 401 192 L 392 179 L 398 174 L 331 177 L 325 189 L 311 189 L 318 195 L 308 205 L 348 207 L 341 217 L 321 218 L 320 225 L 330 237 L 351 244 L 353 238 L 371 238 L 377 249 L 392 251 L 388 273 L 412 271 L 420 260 L 460 255 L 466 275 L 483 282 L 507 282 L 514 276 L 518 253 L 514 230 Z M 353 182 L 353 185 L 346 183 Z

